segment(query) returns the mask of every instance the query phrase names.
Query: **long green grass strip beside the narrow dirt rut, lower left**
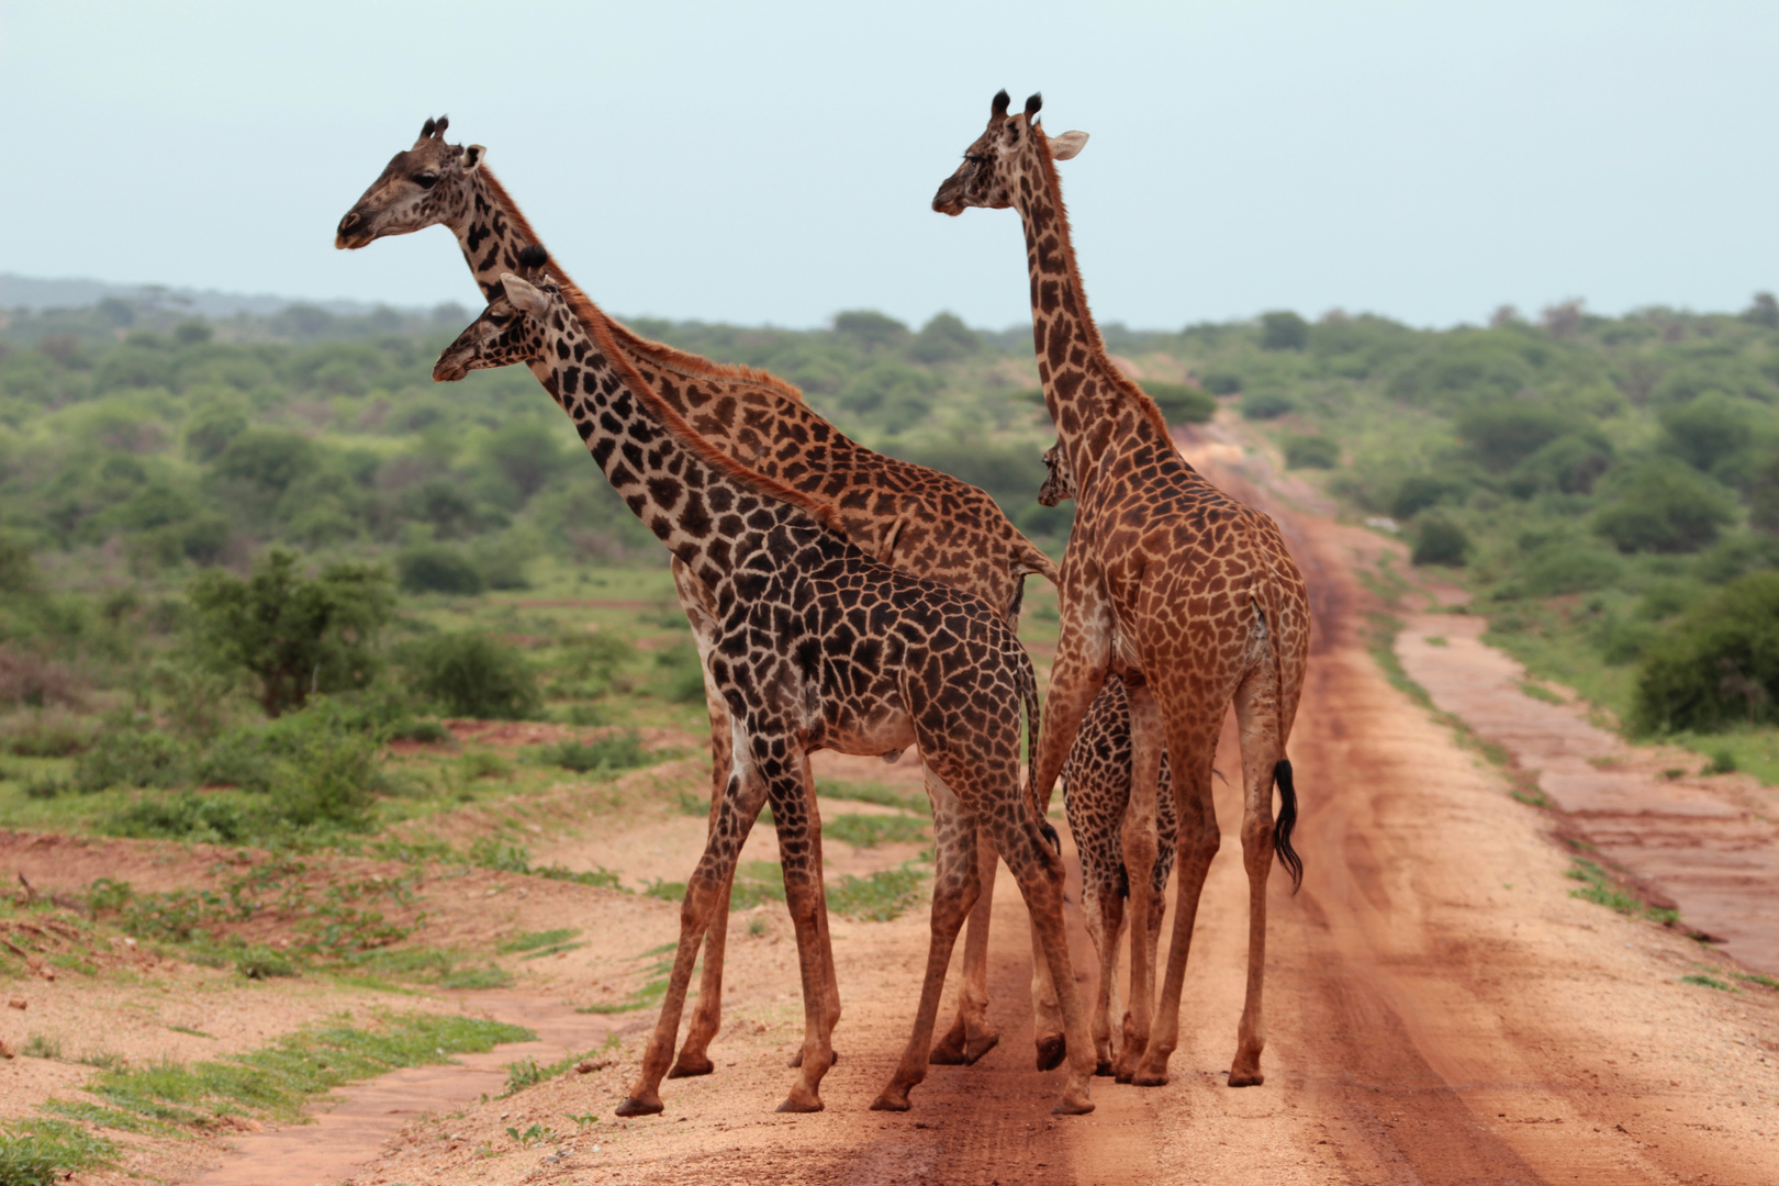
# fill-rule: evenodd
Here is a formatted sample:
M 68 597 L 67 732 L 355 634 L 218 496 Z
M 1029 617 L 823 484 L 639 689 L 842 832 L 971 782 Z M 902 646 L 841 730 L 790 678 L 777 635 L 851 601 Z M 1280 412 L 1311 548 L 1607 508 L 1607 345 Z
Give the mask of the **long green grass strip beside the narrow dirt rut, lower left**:
M 310 1097 L 342 1083 L 534 1037 L 530 1030 L 480 1017 L 398 1014 L 381 1017 L 375 1028 L 340 1021 L 299 1030 L 219 1062 L 114 1070 L 87 1090 L 117 1111 L 187 1127 L 210 1127 L 222 1115 L 295 1120 Z

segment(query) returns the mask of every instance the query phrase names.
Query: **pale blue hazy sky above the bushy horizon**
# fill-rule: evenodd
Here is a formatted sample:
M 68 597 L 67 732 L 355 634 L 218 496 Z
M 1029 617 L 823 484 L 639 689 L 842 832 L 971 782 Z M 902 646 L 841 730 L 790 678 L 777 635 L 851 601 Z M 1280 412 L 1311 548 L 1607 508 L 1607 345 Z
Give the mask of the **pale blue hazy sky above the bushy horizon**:
M 477 304 L 448 231 L 333 247 L 427 116 L 619 317 L 1028 318 L 932 213 L 1044 92 L 1103 322 L 1740 309 L 1779 288 L 1779 5 L 0 0 L 0 272 Z

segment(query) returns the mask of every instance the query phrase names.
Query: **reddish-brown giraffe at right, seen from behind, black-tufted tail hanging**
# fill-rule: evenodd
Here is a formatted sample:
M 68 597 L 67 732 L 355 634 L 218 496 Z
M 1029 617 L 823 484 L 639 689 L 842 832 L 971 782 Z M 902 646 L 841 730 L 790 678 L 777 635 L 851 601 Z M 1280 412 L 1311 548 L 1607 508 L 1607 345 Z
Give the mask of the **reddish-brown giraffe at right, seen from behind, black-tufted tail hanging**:
M 1217 853 L 1211 759 L 1229 702 L 1242 736 L 1242 862 L 1249 880 L 1247 994 L 1229 1086 L 1261 1083 L 1267 1040 L 1261 987 L 1267 873 L 1272 855 L 1292 873 L 1297 797 L 1284 743 L 1302 693 L 1309 599 L 1277 525 L 1222 494 L 1174 448 L 1160 409 L 1107 357 L 1082 292 L 1057 160 L 1085 133 L 1044 135 L 1035 116 L 1007 114 L 994 96 L 989 124 L 939 185 L 932 208 L 1019 210 L 1032 281 L 1032 340 L 1044 404 L 1076 484 L 1075 533 L 1062 564 L 1062 638 L 1039 740 L 1039 802 L 1108 674 L 1130 695 L 1131 798 L 1124 866 L 1155 862 L 1155 797 L 1162 752 L 1172 763 L 1179 811 L 1179 889 L 1167 978 L 1155 1008 L 1155 957 L 1131 960 L 1131 1001 L 1119 1074 L 1167 1081 L 1179 1038 L 1179 992 L 1204 873 Z M 1281 793 L 1277 825 L 1272 791 Z M 1131 918 L 1147 918 L 1149 882 L 1131 878 Z M 1151 1031 L 1153 1015 L 1153 1031 Z

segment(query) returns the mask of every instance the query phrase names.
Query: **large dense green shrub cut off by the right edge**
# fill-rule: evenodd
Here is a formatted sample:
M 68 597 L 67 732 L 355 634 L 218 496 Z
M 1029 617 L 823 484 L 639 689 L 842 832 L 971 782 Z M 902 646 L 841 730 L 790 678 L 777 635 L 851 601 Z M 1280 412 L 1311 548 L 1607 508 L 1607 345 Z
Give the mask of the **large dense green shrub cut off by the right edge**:
M 1752 573 L 1697 601 L 1646 653 L 1631 724 L 1638 733 L 1710 733 L 1775 720 L 1779 573 Z

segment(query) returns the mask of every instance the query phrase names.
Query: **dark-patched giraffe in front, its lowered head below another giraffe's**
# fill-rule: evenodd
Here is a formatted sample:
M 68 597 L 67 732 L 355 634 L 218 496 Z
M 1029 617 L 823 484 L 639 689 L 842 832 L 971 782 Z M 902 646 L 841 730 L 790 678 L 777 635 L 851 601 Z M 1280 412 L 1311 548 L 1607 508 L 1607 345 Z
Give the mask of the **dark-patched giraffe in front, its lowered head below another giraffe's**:
M 1057 1111 L 1092 1110 L 1087 1019 L 1062 925 L 1062 859 L 1030 788 L 1019 786 L 1019 711 L 1035 729 L 1030 660 L 987 603 L 897 573 L 838 533 L 834 509 L 763 478 L 697 436 L 616 350 L 598 309 L 569 301 L 523 252 L 527 277 L 500 295 L 441 356 L 434 379 L 525 363 L 575 420 L 632 512 L 710 592 L 715 635 L 706 670 L 735 741 L 704 855 L 680 914 L 680 946 L 642 1074 L 619 1115 L 662 1110 L 660 1081 L 720 889 L 747 830 L 772 805 L 785 898 L 797 928 L 804 990 L 802 1062 L 781 1111 L 822 1108 L 833 957 L 818 930 L 820 830 L 808 752 L 881 754 L 918 743 L 934 811 L 938 869 L 932 942 L 914 1033 L 872 1108 L 902 1111 L 927 1074 L 952 944 L 978 894 L 977 832 L 991 832 L 1032 912 L 1057 985 L 1069 1074 Z M 1035 741 L 1034 741 L 1035 745 Z

